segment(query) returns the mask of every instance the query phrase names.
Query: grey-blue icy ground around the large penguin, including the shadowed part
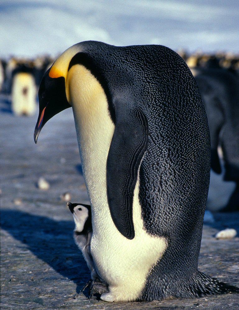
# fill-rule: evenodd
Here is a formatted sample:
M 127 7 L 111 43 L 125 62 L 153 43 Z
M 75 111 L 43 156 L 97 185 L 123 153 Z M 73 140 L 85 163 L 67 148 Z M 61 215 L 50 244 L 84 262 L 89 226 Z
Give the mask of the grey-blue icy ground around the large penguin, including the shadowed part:
M 15 117 L 0 98 L 1 309 L 238 309 L 238 295 L 151 303 L 105 303 L 79 293 L 90 273 L 73 242 L 73 218 L 60 195 L 89 203 L 71 109 L 53 117 L 33 141 L 35 117 Z M 36 187 L 39 177 L 50 184 Z M 239 238 L 216 240 L 221 229 L 239 233 L 239 214 L 214 213 L 204 225 L 199 270 L 239 286 Z

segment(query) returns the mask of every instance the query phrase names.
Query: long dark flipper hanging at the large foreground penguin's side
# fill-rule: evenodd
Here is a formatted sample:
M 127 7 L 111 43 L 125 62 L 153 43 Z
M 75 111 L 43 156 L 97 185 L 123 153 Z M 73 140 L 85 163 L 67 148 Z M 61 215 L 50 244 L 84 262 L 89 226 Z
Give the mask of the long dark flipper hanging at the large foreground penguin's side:
M 139 107 L 118 104 L 106 165 L 107 197 L 119 232 L 134 239 L 133 199 L 138 169 L 148 145 L 148 122 Z

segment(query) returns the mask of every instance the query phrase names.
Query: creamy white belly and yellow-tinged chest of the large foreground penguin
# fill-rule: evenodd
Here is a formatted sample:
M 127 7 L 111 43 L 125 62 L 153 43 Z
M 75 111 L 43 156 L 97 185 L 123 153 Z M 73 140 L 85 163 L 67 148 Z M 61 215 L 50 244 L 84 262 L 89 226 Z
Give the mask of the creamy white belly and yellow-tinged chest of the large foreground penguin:
M 69 93 L 92 207 L 91 254 L 115 301 L 135 300 L 144 287 L 148 272 L 166 249 L 166 240 L 150 236 L 143 228 L 139 182 L 134 191 L 134 239 L 125 238 L 115 227 L 106 191 L 106 161 L 115 126 L 101 85 L 83 66 L 73 68 L 69 71 Z

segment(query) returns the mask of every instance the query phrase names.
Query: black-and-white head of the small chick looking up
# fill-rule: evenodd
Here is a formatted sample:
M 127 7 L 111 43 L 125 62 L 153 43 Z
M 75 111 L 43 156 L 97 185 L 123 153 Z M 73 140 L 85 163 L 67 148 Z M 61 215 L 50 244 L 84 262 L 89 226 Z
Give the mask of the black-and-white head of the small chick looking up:
M 82 232 L 84 229 L 87 218 L 89 217 L 89 211 L 87 207 L 82 206 L 81 204 L 70 204 L 67 203 L 70 211 L 72 212 L 74 222 L 75 222 L 75 231 Z

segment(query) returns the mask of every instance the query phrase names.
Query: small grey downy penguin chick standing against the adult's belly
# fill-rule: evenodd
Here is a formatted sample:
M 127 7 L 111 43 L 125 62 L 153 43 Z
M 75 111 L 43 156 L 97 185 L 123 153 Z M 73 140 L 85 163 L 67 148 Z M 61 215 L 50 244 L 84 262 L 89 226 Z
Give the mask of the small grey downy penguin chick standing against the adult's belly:
M 78 248 L 82 251 L 87 266 L 91 271 L 91 279 L 100 279 L 95 270 L 95 265 L 91 256 L 91 206 L 69 202 L 66 204 L 68 205 L 75 222 L 73 238 Z

